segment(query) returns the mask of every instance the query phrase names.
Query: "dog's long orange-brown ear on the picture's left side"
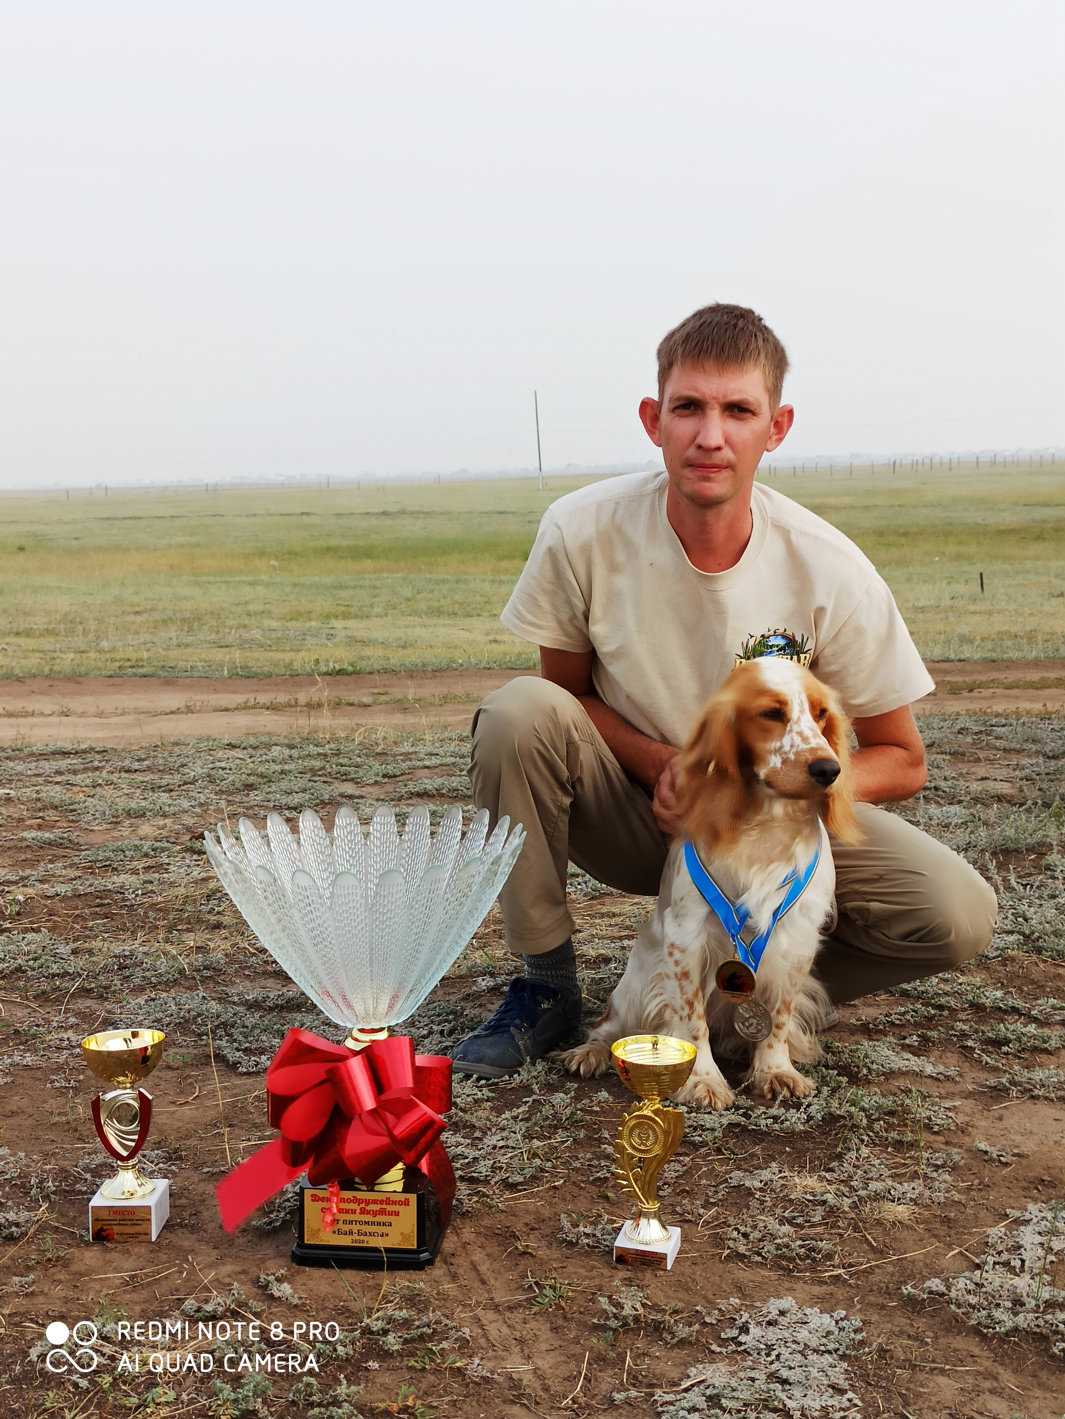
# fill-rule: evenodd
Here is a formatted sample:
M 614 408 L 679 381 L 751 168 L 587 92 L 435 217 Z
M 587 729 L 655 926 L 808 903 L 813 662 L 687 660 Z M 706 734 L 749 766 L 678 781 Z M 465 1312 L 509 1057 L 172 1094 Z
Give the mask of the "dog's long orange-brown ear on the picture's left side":
M 695 725 L 681 755 L 676 807 L 688 836 L 708 849 L 727 847 L 739 837 L 747 789 L 732 700 L 712 700 Z

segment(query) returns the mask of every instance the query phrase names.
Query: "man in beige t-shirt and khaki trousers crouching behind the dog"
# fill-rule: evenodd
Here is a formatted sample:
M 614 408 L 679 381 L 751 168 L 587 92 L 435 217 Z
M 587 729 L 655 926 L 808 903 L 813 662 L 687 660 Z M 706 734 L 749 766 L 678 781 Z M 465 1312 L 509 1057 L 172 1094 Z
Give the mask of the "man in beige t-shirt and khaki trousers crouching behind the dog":
M 810 657 L 858 741 L 862 840 L 832 843 L 837 922 L 814 966 L 831 999 L 949 971 L 991 938 L 987 883 L 875 806 L 923 786 L 909 707 L 935 688 L 891 592 L 848 538 L 754 482 L 794 419 L 786 370 L 753 311 L 696 311 L 658 346 L 658 399 L 640 404 L 665 473 L 604 480 L 543 517 L 501 617 L 540 647 L 540 678 L 484 700 L 469 768 L 478 807 L 528 833 L 501 898 L 525 973 L 455 1049 L 459 1073 L 512 1074 L 579 1029 L 566 867 L 657 894 L 681 832 L 679 748 L 736 656 L 773 653 L 773 637 Z

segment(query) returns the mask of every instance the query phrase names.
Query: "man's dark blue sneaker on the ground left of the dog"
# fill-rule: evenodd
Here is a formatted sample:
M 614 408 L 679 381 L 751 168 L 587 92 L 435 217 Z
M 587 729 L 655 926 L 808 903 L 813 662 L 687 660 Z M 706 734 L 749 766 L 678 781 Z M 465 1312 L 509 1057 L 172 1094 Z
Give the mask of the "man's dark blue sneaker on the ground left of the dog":
M 522 1064 L 543 1059 L 579 1029 L 580 1007 L 580 990 L 564 996 L 543 981 L 518 976 L 495 1015 L 455 1046 L 455 1071 L 481 1078 L 516 1074 Z

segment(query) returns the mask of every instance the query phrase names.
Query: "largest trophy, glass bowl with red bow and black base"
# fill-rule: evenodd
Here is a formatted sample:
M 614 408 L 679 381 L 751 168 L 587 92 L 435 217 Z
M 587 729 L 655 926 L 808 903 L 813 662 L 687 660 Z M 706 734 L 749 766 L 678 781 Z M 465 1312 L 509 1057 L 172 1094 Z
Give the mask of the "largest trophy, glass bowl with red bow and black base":
M 450 807 L 431 832 L 427 807 L 403 833 L 379 807 L 363 836 L 339 807 L 332 833 L 316 813 L 299 837 L 271 813 L 265 839 L 248 819 L 240 841 L 218 824 L 207 856 L 241 915 L 301 990 L 346 1030 L 335 1044 L 289 1030 L 267 1070 L 278 1137 L 217 1186 L 234 1230 L 286 1183 L 301 1182 L 292 1260 L 302 1266 L 404 1270 L 431 1266 L 455 1195 L 441 1135 L 451 1060 L 416 1054 L 393 1034 L 458 959 L 522 849 L 520 824 L 488 813 L 462 833 Z

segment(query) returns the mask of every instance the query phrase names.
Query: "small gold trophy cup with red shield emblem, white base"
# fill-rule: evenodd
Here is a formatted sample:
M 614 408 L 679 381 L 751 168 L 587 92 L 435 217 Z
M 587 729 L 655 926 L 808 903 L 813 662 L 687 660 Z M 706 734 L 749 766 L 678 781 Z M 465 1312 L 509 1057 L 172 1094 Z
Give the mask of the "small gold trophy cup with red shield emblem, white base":
M 170 1216 L 170 1183 L 146 1178 L 136 1165 L 152 1124 L 152 1095 L 133 1088 L 163 1057 L 162 1030 L 102 1030 L 81 1042 L 96 1078 L 115 1084 L 92 1100 L 96 1137 L 118 1162 L 89 1203 L 94 1242 L 155 1242 Z

